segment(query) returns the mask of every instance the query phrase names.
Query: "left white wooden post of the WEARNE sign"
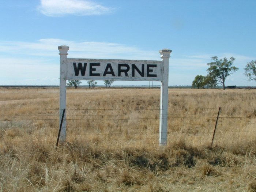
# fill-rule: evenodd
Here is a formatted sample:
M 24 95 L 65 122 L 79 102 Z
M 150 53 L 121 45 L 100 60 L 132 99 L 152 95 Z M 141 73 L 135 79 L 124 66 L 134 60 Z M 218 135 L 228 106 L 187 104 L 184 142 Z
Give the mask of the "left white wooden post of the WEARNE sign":
M 63 109 L 66 108 L 66 80 L 67 80 L 67 54 L 69 47 L 66 45 L 58 46 L 60 51 L 60 122 L 63 113 Z M 60 143 L 64 143 L 66 140 L 66 114 L 64 115 L 61 132 Z

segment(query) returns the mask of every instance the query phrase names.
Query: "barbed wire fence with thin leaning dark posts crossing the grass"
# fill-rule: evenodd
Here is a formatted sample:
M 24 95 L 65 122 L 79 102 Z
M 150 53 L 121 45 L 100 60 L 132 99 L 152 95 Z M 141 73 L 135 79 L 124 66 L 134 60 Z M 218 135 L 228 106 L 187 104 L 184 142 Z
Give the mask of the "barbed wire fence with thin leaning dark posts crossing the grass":
M 67 142 L 158 146 L 159 109 L 66 109 Z M 59 109 L 0 109 L 0 138 L 56 143 Z M 168 109 L 167 143 L 196 146 L 256 140 L 256 108 Z

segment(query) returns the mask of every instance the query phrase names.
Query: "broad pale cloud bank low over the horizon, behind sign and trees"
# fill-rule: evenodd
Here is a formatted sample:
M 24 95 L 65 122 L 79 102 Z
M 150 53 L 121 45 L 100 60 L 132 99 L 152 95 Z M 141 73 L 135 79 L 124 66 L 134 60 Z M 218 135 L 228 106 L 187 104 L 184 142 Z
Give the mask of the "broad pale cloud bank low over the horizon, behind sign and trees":
M 40 39 L 35 42 L 0 41 L 0 84 L 58 84 L 58 46 L 63 44 L 69 46 L 68 58 L 161 60 L 158 50 L 144 50 L 110 42 L 75 42 L 65 39 Z M 233 53 L 216 55 L 219 59 L 231 56 L 236 58 L 234 66 L 239 70 L 232 74 L 233 79 L 227 80 L 228 84 L 255 86 L 255 82 L 248 82 L 243 75 L 243 68 L 246 62 L 253 60 L 252 57 Z M 207 75 L 207 63 L 211 62 L 211 56 L 171 54 L 169 84 L 188 85 L 196 75 Z M 232 80 L 234 82 L 231 82 Z

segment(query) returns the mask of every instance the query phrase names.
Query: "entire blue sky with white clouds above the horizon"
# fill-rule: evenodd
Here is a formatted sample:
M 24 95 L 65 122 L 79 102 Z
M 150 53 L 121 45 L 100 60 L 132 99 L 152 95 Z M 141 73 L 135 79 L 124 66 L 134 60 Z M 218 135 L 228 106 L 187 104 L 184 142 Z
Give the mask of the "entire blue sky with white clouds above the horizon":
M 256 86 L 243 75 L 256 60 L 255 0 L 0 2 L 0 85 L 58 85 L 57 47 L 68 45 L 69 58 L 93 59 L 161 60 L 171 49 L 170 86 L 207 75 L 212 56 L 233 56 L 239 70 L 225 84 Z

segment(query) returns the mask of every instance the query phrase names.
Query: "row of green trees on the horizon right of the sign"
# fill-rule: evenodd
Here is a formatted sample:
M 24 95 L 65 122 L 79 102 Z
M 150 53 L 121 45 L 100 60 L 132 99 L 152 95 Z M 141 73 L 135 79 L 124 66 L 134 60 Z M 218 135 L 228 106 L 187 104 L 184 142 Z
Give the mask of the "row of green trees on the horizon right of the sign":
M 196 75 L 192 82 L 193 88 L 215 88 L 218 84 L 221 84 L 223 90 L 225 90 L 226 78 L 238 70 L 237 67 L 233 66 L 234 57 L 230 57 L 229 60 L 226 57 L 220 60 L 217 56 L 211 58 L 213 61 L 207 63 L 210 66 L 207 69 L 208 74 L 206 76 Z M 248 80 L 256 81 L 256 61 L 247 63 L 244 70 L 244 75 L 248 77 Z

